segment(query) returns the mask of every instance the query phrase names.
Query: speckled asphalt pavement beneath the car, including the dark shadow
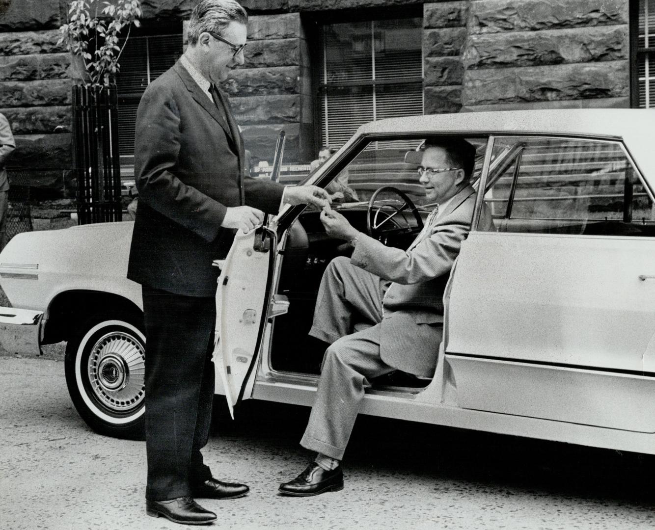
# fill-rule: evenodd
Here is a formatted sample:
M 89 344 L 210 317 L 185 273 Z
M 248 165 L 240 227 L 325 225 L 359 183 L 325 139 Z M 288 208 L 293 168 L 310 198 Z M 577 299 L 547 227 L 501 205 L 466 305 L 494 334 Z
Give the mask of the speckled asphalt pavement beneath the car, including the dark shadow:
M 646 529 L 653 457 L 360 417 L 345 489 L 282 497 L 308 462 L 309 409 L 244 402 L 219 414 L 214 475 L 251 487 L 203 500 L 223 529 Z M 94 434 L 68 397 L 64 363 L 0 357 L 0 529 L 174 529 L 145 515 L 145 444 Z

